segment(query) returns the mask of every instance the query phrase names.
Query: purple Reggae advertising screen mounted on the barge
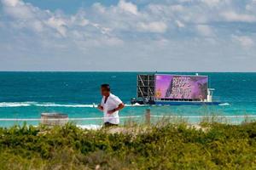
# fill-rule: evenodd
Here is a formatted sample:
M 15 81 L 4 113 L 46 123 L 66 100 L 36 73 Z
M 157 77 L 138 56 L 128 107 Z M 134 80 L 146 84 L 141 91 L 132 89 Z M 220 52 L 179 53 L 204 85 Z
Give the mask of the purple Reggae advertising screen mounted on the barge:
M 156 99 L 207 99 L 208 77 L 155 75 Z

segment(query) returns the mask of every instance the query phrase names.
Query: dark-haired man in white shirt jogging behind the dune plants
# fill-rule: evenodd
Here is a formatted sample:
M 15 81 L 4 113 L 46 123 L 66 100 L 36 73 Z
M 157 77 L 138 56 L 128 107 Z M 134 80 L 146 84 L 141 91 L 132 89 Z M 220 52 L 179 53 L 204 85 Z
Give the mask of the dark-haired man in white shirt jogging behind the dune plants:
M 102 84 L 101 93 L 103 96 L 102 103 L 101 105 L 98 105 L 98 109 L 104 113 L 104 126 L 118 126 L 119 111 L 125 107 L 124 103 L 119 97 L 111 94 L 108 84 Z

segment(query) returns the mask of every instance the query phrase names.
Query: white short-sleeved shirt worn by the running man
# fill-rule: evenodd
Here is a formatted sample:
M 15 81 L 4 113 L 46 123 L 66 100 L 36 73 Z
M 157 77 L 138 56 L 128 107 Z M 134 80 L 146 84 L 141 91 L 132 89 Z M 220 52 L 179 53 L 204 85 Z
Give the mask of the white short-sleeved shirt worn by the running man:
M 103 114 L 104 114 L 104 122 L 110 122 L 112 124 L 119 124 L 119 111 L 115 111 L 112 114 L 108 114 L 108 111 L 112 111 L 116 109 L 120 104 L 123 102 L 119 99 L 119 97 L 109 94 L 106 103 L 105 96 L 102 98 L 102 107 L 103 107 Z

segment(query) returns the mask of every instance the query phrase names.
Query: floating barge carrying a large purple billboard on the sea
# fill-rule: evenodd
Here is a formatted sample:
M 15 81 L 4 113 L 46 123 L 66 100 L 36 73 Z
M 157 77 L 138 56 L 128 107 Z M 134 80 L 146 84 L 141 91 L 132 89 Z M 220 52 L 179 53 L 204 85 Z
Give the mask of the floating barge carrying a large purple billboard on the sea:
M 209 77 L 196 75 L 137 75 L 137 98 L 131 105 L 219 105 L 212 99 Z

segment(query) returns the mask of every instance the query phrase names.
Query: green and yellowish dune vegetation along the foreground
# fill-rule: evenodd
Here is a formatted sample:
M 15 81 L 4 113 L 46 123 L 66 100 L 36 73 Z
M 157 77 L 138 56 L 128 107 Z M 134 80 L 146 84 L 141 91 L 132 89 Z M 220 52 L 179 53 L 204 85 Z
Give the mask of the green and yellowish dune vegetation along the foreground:
M 256 122 L 125 128 L 131 130 L 0 128 L 0 169 L 256 168 Z

